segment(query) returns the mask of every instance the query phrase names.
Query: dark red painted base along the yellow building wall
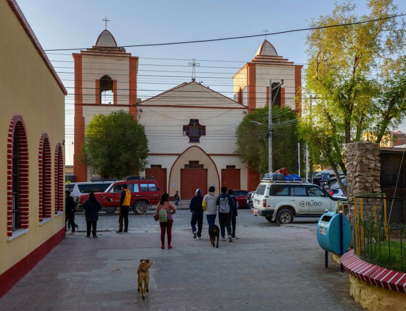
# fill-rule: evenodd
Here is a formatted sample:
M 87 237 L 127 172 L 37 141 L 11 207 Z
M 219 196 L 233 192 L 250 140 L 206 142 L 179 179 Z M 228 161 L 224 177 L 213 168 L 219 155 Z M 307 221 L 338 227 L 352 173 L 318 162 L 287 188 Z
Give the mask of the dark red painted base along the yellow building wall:
M 65 238 L 65 227 L 0 275 L 0 298 Z

